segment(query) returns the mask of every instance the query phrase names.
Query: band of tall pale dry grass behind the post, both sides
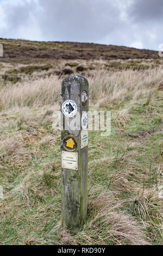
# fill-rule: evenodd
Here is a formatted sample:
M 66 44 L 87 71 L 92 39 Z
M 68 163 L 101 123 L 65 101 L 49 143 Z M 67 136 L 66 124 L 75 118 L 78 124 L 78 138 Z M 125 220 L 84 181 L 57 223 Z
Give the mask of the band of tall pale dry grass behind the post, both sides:
M 90 83 L 90 103 L 114 106 L 127 100 L 137 101 L 147 95 L 152 99 L 155 90 L 158 90 L 162 83 L 162 70 L 162 66 L 159 66 L 142 71 L 94 71 L 91 77 L 87 77 Z M 61 80 L 62 78 L 53 75 L 32 83 L 17 83 L 12 87 L 8 85 L 1 90 L 0 108 L 4 110 L 17 106 L 38 107 L 59 103 Z

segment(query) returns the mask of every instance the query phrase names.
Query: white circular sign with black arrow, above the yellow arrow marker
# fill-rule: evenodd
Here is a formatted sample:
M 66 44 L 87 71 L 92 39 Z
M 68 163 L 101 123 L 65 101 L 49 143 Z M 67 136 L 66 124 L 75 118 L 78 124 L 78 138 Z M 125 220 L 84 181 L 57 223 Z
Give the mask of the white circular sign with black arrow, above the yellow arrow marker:
M 74 117 L 77 110 L 77 104 L 73 100 L 66 100 L 64 103 L 62 103 L 62 113 L 66 117 Z

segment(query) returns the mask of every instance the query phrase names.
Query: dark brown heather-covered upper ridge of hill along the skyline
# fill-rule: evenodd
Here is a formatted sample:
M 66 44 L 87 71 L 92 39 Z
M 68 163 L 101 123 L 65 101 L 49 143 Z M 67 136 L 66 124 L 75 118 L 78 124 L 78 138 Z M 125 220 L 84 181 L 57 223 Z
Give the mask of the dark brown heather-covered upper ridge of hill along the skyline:
M 39 42 L 1 39 L 4 59 L 55 58 L 55 59 L 149 59 L 159 58 L 158 52 L 125 46 L 100 45 L 80 42 Z

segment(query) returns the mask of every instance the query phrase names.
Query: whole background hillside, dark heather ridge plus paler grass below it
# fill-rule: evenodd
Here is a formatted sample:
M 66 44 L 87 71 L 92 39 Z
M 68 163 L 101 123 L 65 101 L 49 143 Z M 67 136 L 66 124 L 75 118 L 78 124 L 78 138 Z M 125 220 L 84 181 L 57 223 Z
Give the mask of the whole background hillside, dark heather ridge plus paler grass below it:
M 51 75 L 94 76 L 95 70 L 146 70 L 162 63 L 158 52 L 79 42 L 1 39 L 0 87 Z

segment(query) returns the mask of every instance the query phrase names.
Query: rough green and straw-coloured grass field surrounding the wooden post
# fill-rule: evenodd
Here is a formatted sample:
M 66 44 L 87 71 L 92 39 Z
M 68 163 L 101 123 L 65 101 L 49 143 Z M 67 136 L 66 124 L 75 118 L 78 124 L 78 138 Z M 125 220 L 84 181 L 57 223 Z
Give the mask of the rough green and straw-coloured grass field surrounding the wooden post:
M 163 245 L 161 60 L 0 65 L 0 244 Z M 83 66 L 90 110 L 111 111 L 109 137 L 89 132 L 88 214 L 77 235 L 60 227 L 60 131 L 52 128 L 67 66 Z

